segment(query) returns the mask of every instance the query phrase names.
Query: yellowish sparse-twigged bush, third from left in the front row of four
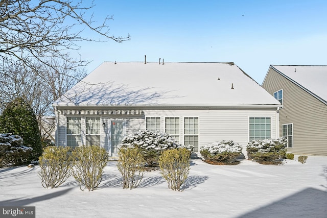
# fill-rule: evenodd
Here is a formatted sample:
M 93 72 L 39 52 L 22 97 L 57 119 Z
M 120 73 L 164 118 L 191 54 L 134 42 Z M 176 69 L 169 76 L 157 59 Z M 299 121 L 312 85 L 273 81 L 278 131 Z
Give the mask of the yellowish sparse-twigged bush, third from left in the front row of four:
M 121 148 L 117 167 L 123 176 L 123 188 L 136 188 L 144 175 L 144 158 L 137 148 Z

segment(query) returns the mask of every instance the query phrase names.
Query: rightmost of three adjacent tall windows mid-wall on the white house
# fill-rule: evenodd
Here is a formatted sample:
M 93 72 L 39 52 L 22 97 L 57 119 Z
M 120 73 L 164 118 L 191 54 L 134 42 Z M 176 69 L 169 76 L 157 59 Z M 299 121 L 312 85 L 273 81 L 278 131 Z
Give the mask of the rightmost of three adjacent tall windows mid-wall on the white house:
M 184 144 L 192 144 L 194 151 L 199 151 L 199 118 L 184 117 Z

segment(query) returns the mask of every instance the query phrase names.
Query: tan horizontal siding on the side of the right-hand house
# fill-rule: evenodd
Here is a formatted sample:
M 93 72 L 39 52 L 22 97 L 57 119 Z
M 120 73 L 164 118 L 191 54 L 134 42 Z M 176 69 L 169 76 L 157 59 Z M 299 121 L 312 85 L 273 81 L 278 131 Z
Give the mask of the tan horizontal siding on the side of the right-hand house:
M 327 105 L 298 87 L 281 74 L 269 69 L 263 83 L 270 94 L 283 89 L 283 105 L 279 125 L 293 124 L 294 154 L 327 155 Z

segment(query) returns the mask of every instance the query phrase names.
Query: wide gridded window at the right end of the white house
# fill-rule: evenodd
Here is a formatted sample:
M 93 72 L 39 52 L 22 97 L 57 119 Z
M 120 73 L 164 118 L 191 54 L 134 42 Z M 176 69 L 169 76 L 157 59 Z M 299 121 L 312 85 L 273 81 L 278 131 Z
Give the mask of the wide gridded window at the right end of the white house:
M 250 141 L 271 138 L 270 117 L 250 117 L 249 136 Z

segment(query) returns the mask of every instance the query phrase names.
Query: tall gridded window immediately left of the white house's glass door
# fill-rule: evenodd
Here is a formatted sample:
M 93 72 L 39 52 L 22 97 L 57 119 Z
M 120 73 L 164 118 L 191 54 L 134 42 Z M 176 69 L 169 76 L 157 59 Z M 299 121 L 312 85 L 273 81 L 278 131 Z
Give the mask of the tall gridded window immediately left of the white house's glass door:
M 100 146 L 100 117 L 86 117 L 86 146 Z

